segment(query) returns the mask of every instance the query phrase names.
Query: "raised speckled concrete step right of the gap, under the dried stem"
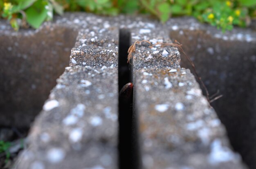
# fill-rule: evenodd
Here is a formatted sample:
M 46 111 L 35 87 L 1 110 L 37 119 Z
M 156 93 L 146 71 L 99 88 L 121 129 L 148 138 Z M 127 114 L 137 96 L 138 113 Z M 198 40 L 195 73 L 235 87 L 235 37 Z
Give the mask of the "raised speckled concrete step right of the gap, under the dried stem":
M 166 36 L 169 33 L 168 28 L 159 22 L 129 20 L 129 18 L 124 20 L 127 23 L 123 24 L 121 22 L 120 27 L 130 29 L 132 43 L 142 40 L 147 40 L 153 45 L 156 43 L 171 43 L 170 38 Z M 134 69 L 180 66 L 180 53 L 177 51 L 177 48 L 170 48 L 169 46 L 160 48 L 161 45 L 149 48 L 147 42 L 142 42 L 141 45 L 137 46 L 139 47 L 136 48 L 134 55 Z

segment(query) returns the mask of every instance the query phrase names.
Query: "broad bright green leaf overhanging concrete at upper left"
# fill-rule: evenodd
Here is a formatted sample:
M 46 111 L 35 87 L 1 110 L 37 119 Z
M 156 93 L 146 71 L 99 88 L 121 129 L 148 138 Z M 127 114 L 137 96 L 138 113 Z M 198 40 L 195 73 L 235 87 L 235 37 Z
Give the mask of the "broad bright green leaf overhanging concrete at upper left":
M 39 28 L 47 18 L 46 6 L 47 5 L 45 5 L 43 0 L 38 0 L 25 11 L 27 15 L 27 23 L 29 23 L 33 28 Z

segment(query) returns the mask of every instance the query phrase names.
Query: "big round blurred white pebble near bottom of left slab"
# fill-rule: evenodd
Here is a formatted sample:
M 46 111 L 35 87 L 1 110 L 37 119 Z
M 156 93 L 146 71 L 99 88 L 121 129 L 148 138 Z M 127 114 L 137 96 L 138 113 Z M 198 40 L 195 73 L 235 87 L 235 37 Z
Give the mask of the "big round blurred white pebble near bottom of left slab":
M 61 148 L 52 148 L 47 151 L 47 160 L 51 163 L 61 162 L 65 158 L 65 151 Z

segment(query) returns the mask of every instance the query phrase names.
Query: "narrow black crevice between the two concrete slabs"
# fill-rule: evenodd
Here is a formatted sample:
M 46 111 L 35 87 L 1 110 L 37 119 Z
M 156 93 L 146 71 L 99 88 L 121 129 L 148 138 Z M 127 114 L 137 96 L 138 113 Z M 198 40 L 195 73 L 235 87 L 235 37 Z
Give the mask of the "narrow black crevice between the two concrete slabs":
M 137 169 L 137 137 L 133 111 L 132 61 L 127 63 L 131 35 L 119 30 L 118 84 L 119 84 L 119 169 Z M 131 83 L 130 83 L 131 82 Z M 127 84 L 128 83 L 128 84 Z M 124 87 L 124 88 L 123 88 Z M 131 88 L 130 88 L 131 87 Z

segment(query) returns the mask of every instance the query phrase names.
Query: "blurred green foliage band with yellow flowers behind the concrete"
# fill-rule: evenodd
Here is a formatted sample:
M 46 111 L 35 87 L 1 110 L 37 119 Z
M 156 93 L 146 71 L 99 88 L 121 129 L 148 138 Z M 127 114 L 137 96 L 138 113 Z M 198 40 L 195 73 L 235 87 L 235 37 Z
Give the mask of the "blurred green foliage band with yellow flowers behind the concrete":
M 256 18 L 256 0 L 0 0 L 2 18 L 13 29 L 20 26 L 38 28 L 53 14 L 85 11 L 100 15 L 151 14 L 161 22 L 174 16 L 194 16 L 222 31 L 234 25 L 245 27 Z M 28 24 L 28 25 L 27 25 Z

